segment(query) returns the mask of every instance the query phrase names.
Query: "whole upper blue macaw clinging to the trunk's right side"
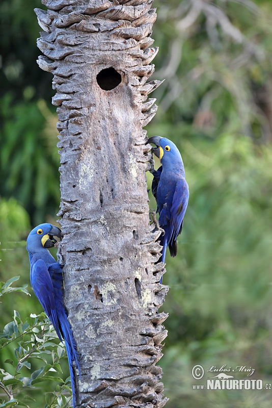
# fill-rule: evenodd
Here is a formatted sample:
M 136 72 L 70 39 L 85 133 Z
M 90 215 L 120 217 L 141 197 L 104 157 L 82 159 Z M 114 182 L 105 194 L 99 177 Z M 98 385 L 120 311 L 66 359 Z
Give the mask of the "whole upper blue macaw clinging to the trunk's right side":
M 189 188 L 177 146 L 171 140 L 160 136 L 149 138 L 147 143 L 156 145 L 156 148 L 152 148 L 152 152 L 161 163 L 158 170 L 152 170 L 154 177 L 152 194 L 157 201 L 159 225 L 165 231 L 160 239 L 160 244 L 163 246 L 161 261 L 165 262 L 167 247 L 169 247 L 171 257 L 175 257 L 177 254 L 177 237 L 183 226 L 183 218 L 189 199 Z

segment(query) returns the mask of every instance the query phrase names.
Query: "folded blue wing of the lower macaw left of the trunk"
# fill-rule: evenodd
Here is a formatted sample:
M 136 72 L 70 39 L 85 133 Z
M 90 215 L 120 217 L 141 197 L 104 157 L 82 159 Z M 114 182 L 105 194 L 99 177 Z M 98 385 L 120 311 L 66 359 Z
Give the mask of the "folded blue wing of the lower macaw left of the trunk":
M 32 265 L 31 285 L 45 313 L 51 320 L 57 335 L 62 341 L 62 335 L 59 326 L 59 318 L 55 303 L 55 290 L 47 266 L 41 259 L 39 259 L 38 261 L 35 262 L 34 265 Z

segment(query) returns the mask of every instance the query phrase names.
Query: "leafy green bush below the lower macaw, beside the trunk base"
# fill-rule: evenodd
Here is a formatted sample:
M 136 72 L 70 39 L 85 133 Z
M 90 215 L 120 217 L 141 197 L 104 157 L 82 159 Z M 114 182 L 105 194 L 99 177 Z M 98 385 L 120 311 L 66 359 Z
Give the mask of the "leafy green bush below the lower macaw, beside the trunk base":
M 25 286 L 12 287 L 18 279 L 19 276 L 15 276 L 6 283 L 0 282 L 0 297 L 7 293 L 14 295 L 15 292 L 30 295 Z M 0 407 L 36 408 L 41 406 L 44 398 L 45 408 L 66 408 L 71 405 L 69 378 L 64 381 L 60 377 L 60 363 L 66 358 L 65 347 L 59 342 L 45 313 L 31 314 L 22 321 L 20 314 L 14 310 L 13 320 L 0 333 L 0 352 L 0 389 L 2 396 L 6 395 L 6 398 L 0 399 Z M 41 382 L 46 384 L 42 395 L 36 386 Z

